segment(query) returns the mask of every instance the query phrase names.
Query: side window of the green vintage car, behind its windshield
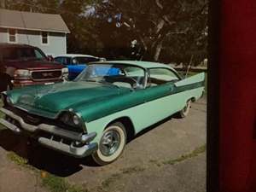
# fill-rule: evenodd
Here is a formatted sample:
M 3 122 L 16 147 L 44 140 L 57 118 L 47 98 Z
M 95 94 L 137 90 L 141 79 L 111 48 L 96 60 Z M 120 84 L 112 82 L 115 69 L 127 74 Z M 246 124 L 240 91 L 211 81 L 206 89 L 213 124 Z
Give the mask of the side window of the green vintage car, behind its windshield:
M 167 68 L 152 68 L 149 69 L 149 73 L 148 85 L 166 84 L 167 82 L 179 79 L 176 73 Z

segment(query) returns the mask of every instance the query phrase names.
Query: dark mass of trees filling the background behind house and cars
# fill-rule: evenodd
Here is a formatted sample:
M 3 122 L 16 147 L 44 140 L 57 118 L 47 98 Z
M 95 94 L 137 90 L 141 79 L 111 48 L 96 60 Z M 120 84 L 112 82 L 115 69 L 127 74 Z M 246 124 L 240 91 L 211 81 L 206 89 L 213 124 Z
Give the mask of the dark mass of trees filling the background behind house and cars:
M 68 52 L 183 64 L 207 57 L 207 0 L 5 0 L 5 6 L 60 14 L 71 31 Z

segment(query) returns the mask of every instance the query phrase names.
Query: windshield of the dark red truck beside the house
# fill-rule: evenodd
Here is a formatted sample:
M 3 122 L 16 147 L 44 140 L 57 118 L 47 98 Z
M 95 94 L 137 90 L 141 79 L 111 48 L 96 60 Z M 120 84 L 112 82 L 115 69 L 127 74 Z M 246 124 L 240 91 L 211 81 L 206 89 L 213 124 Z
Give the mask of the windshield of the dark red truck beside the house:
M 39 49 L 34 48 L 5 48 L 2 50 L 3 60 L 46 60 Z

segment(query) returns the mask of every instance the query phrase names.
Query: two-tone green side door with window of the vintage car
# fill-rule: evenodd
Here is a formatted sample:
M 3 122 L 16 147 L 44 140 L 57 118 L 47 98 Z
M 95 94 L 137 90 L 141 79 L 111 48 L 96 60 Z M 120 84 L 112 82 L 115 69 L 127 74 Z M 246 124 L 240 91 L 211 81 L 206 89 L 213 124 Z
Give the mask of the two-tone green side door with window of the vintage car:
M 175 82 L 180 80 L 176 73 L 168 68 L 148 69 L 148 84 L 145 89 L 145 108 L 147 119 L 151 125 L 177 112 L 177 96 Z

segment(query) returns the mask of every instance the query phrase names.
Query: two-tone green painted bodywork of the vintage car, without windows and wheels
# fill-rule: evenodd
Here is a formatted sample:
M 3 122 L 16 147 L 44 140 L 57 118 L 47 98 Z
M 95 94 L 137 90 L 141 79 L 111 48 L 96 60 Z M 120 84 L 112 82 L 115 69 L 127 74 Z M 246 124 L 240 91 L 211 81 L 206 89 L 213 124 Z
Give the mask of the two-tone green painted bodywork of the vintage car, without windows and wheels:
M 109 62 L 141 67 L 147 78 L 150 78 L 150 69 L 168 69 L 177 75 L 178 80 L 157 86 L 151 86 L 147 83 L 143 89 L 129 89 L 96 82 L 63 82 L 36 85 L 5 93 L 4 97 L 5 99 L 8 98 L 12 107 L 9 108 L 9 104 L 5 101 L 8 107 L 3 107 L 1 110 L 7 116 L 10 115 L 9 112 L 15 113 L 16 116 L 19 116 L 19 113 L 25 113 L 31 115 L 32 120 L 34 117 L 48 119 L 49 122 L 56 121 L 64 112 L 72 112 L 78 115 L 82 121 L 83 130 L 77 132 L 84 134 L 85 137 L 90 134 L 92 136 L 84 142 L 87 146 L 93 143 L 89 152 L 82 154 L 78 152 L 76 154 L 77 152 L 69 153 L 72 150 L 67 148 L 68 151 L 63 151 L 62 148 L 53 148 L 66 154 L 82 157 L 93 153 L 97 149 L 102 132 L 111 123 L 120 121 L 124 125 L 126 124 L 126 131 L 135 135 L 149 125 L 154 125 L 161 119 L 166 119 L 183 110 L 189 100 L 194 102 L 203 94 L 204 73 L 182 79 L 172 67 L 164 64 L 144 61 L 105 61 L 101 63 Z M 18 120 L 18 123 L 20 122 L 17 117 L 15 117 L 15 120 Z M 6 123 L 6 119 L 1 119 L 0 123 L 5 126 L 9 125 Z M 44 124 L 46 123 L 44 122 Z M 49 123 L 48 125 L 54 124 Z M 34 128 L 36 129 L 36 126 Z M 54 126 L 51 128 L 56 128 L 57 131 L 66 131 Z M 41 129 L 41 131 L 45 131 L 45 129 L 47 127 Z M 15 131 L 15 127 L 12 127 L 12 130 Z M 19 129 L 19 131 L 22 131 L 22 129 Z M 49 133 L 55 135 L 55 131 L 49 131 Z M 73 130 L 70 131 L 70 133 L 72 132 Z M 59 133 L 56 133 L 56 135 L 60 136 Z M 65 135 L 65 133 L 62 135 Z M 45 144 L 42 141 L 41 143 Z

